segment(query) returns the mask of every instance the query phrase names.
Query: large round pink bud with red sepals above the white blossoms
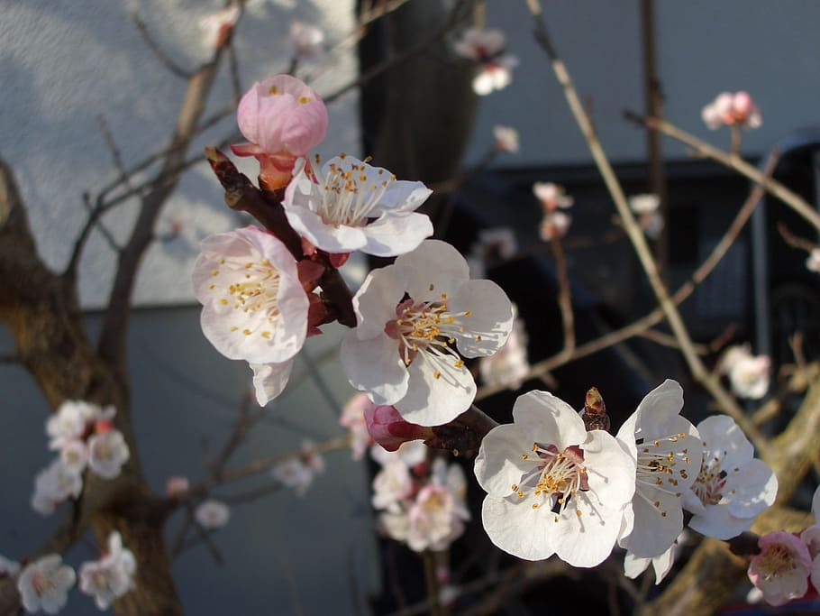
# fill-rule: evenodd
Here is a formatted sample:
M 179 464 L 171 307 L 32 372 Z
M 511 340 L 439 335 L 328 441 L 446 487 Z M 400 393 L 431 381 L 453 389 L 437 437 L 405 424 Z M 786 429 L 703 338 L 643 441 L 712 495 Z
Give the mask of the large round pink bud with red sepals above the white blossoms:
M 237 156 L 260 161 L 260 177 L 286 186 L 296 159 L 322 142 L 327 109 L 318 95 L 290 75 L 258 81 L 241 98 L 236 112 L 239 130 L 251 143 L 232 145 Z

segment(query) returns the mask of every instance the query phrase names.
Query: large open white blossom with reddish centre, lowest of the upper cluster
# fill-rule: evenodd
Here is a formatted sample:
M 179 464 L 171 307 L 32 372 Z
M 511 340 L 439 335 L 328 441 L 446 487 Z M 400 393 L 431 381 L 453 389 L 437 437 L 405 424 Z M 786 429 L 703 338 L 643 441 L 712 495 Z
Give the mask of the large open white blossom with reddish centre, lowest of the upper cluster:
M 348 380 L 420 426 L 451 421 L 475 398 L 476 382 L 456 348 L 466 357 L 493 354 L 513 324 L 505 292 L 490 280 L 469 280 L 464 258 L 437 240 L 371 271 L 353 308 L 358 326 L 342 342 Z

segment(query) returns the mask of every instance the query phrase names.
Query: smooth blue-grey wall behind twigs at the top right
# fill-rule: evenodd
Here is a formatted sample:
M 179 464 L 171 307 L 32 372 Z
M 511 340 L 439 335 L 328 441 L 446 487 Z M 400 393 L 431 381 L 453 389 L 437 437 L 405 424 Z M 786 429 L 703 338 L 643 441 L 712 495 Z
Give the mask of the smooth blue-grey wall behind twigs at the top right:
M 640 14 L 637 0 L 542 2 L 551 35 L 582 97 L 591 97 L 606 152 L 615 161 L 641 160 L 644 135 L 621 117 L 642 111 Z M 784 134 L 820 124 L 820 3 L 812 0 L 656 0 L 659 69 L 669 119 L 689 132 L 728 145 L 700 110 L 723 90 L 746 89 L 759 103 L 763 126 L 744 134 L 743 152 L 763 154 Z M 494 124 L 521 133 L 522 152 L 500 165 L 590 162 L 578 128 L 543 52 L 533 42 L 524 2 L 489 0 L 487 25 L 504 30 L 521 60 L 510 87 L 485 97 L 470 158 L 492 141 Z M 686 156 L 664 142 L 667 156 Z

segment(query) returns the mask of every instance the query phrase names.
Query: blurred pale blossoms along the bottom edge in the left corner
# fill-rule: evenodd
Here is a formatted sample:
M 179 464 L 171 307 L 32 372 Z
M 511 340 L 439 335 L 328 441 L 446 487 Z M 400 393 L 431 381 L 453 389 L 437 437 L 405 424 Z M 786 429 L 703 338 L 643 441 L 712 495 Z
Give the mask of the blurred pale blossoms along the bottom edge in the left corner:
M 97 608 L 107 610 L 115 599 L 133 590 L 136 570 L 136 558 L 114 531 L 102 556 L 80 565 L 79 589 L 94 598 Z M 77 573 L 59 554 L 41 556 L 22 569 L 19 563 L 0 556 L 3 577 L 16 578 L 17 592 L 29 613 L 58 613 L 68 602 L 68 591 L 77 584 Z

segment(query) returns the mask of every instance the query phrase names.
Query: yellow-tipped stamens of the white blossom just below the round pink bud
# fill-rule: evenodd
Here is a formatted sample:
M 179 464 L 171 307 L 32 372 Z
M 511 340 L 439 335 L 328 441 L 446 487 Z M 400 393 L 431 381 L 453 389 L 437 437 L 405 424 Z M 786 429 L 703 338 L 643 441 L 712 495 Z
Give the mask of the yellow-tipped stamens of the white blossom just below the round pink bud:
M 340 158 L 345 157 L 340 155 Z M 316 214 L 325 225 L 337 227 L 366 225 L 390 182 L 396 179 L 395 175 L 386 175 L 383 169 L 368 172 L 364 162 L 353 162 L 350 169 L 332 162 L 324 176 L 316 164 L 314 174 L 322 195 Z

